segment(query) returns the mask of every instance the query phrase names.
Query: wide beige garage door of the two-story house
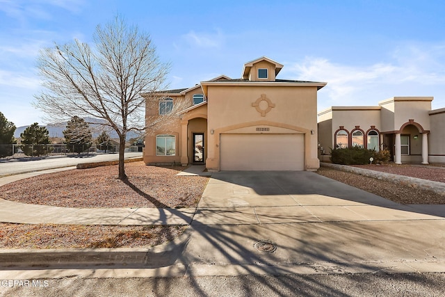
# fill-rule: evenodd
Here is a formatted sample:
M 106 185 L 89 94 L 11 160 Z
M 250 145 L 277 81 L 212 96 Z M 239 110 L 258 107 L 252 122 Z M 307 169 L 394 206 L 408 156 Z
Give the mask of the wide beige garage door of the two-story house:
M 221 134 L 221 170 L 304 170 L 303 134 Z

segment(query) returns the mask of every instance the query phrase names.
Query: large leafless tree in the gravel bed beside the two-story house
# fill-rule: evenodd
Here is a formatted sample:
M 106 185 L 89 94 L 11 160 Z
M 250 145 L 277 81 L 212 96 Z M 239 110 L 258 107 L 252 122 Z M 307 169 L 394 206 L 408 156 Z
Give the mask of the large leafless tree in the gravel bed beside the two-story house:
M 145 98 L 140 94 L 155 94 L 165 88 L 170 65 L 159 61 L 149 35 L 137 26 L 128 26 L 122 17 L 97 26 L 93 40 L 92 47 L 74 40 L 40 52 L 38 68 L 46 89 L 35 96 L 35 106 L 52 122 L 67 121 L 74 115 L 102 119 L 103 125 L 119 136 L 119 178 L 126 179 L 127 133 L 147 129 Z M 172 112 L 153 122 L 177 118 L 181 109 L 183 106 L 176 104 Z M 151 122 L 149 129 L 153 129 Z

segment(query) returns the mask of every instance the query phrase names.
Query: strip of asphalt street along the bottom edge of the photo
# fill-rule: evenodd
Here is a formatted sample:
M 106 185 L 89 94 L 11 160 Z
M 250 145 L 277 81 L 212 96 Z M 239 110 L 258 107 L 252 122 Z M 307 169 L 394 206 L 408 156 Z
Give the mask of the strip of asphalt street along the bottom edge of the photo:
M 42 279 L 40 284 L 40 287 L 6 285 L 0 287 L 0 296 L 444 296 L 445 274 L 364 273 L 191 278 L 80 278 L 73 275 L 70 278 Z

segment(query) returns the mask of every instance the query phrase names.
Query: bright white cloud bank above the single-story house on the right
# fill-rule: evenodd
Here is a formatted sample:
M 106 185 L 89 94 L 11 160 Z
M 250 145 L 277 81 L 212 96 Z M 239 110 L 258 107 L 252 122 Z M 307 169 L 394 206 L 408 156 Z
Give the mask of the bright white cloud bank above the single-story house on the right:
M 318 93 L 319 109 L 375 106 L 393 96 L 434 96 L 433 108 L 440 108 L 445 106 L 444 49 L 444 45 L 404 45 L 394 50 L 389 62 L 360 66 L 306 57 L 287 64 L 280 76 L 327 82 Z

